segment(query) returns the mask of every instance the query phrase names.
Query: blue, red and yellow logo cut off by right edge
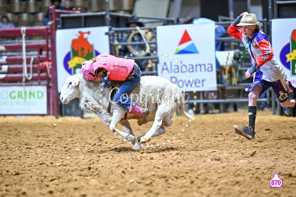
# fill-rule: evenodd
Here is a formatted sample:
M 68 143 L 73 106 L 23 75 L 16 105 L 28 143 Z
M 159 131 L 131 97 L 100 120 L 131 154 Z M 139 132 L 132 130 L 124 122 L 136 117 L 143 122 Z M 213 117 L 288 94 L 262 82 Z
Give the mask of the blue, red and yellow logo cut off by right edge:
M 290 43 L 286 44 L 280 53 L 281 63 L 296 76 L 296 30 L 292 31 Z

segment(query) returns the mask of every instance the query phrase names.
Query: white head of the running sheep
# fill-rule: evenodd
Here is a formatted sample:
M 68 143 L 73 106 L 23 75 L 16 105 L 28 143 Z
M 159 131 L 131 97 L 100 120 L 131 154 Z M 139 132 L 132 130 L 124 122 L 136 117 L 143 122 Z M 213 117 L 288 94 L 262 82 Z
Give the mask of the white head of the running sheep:
M 80 97 L 79 82 L 79 74 L 67 78 L 60 95 L 62 103 L 67 104 L 71 100 Z

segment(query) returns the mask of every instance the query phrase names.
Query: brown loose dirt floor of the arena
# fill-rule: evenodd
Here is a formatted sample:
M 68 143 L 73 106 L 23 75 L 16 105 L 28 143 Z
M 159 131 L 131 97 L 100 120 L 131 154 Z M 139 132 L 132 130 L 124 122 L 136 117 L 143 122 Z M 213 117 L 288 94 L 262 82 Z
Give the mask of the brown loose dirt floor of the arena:
M 246 112 L 173 120 L 137 152 L 98 118 L 0 117 L 0 196 L 295 196 L 295 117 L 258 111 L 255 140 Z

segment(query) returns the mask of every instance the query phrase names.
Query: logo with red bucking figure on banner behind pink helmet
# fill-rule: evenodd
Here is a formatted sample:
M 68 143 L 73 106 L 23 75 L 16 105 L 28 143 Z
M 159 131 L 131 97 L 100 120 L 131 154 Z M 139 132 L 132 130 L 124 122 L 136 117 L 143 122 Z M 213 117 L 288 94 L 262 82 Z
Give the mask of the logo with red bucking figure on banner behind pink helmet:
M 100 54 L 85 38 L 85 35 L 90 35 L 90 32 L 79 31 L 78 34 L 78 38 L 72 40 L 70 51 L 63 62 L 65 70 L 71 75 L 80 74 L 82 63 Z

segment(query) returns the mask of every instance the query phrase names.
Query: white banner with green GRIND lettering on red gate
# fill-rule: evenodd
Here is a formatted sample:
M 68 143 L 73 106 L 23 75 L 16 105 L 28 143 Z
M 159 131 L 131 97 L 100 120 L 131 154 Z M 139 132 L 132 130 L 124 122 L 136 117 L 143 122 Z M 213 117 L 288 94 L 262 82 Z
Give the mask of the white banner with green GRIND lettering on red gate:
M 22 86 L 0 87 L 0 115 L 46 114 L 46 86 L 26 86 L 25 93 Z

